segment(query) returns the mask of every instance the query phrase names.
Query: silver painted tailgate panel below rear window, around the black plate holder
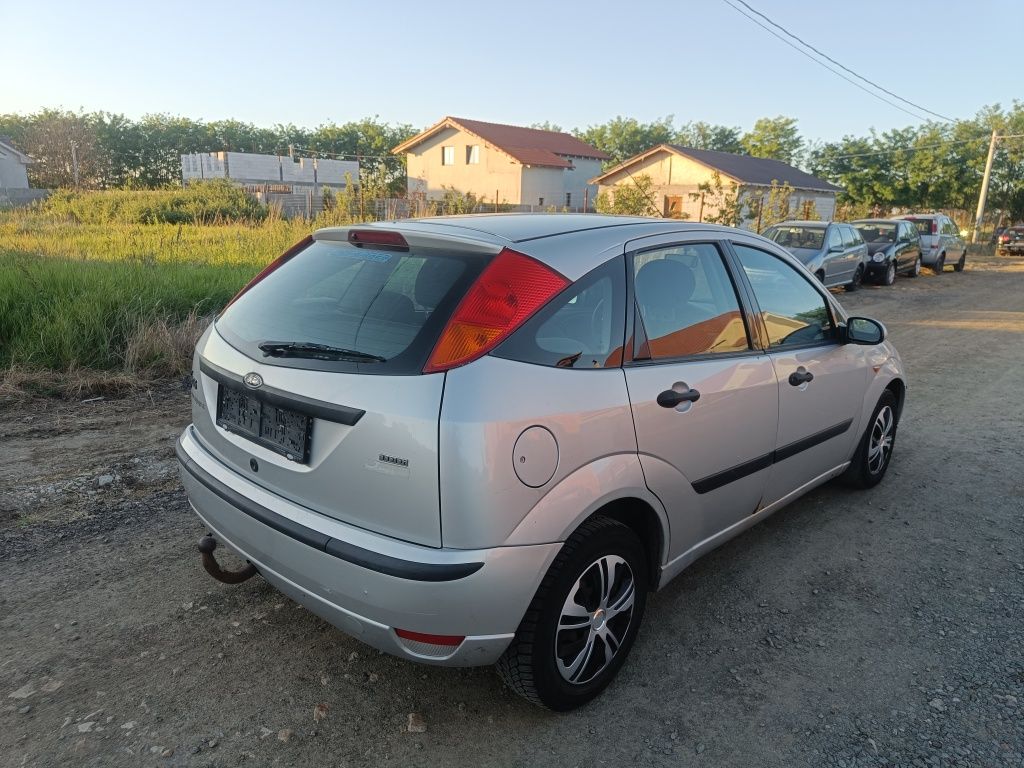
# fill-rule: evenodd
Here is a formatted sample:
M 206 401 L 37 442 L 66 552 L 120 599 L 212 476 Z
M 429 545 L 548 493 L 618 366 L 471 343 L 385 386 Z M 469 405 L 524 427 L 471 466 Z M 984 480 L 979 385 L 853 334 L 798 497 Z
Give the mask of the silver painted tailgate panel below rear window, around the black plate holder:
M 251 373 L 263 380 L 256 390 L 243 383 Z M 268 366 L 242 354 L 211 329 L 199 346 L 193 375 L 198 382 L 193 423 L 199 439 L 225 465 L 335 519 L 440 546 L 437 418 L 443 374 L 365 376 Z M 260 390 L 280 393 L 275 408 L 310 416 L 306 462 L 218 426 L 218 398 L 225 389 L 258 400 Z M 354 416 L 354 424 L 342 423 Z

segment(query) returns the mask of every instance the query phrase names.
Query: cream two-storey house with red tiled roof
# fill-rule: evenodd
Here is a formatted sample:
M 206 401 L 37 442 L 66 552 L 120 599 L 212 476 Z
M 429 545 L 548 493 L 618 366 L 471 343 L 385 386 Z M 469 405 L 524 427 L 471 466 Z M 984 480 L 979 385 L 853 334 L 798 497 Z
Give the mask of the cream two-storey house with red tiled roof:
M 407 158 L 410 197 L 439 200 L 454 188 L 534 210 L 592 208 L 590 179 L 608 159 L 568 133 L 452 117 L 392 152 Z

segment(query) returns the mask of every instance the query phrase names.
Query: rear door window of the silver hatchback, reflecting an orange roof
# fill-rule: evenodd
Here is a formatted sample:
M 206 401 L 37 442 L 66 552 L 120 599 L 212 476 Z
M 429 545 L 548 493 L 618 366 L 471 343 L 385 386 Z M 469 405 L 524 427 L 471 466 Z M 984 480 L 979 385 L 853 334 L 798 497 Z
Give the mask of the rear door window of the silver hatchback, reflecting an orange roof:
M 736 291 L 711 243 L 644 251 L 633 257 L 637 359 L 750 349 Z

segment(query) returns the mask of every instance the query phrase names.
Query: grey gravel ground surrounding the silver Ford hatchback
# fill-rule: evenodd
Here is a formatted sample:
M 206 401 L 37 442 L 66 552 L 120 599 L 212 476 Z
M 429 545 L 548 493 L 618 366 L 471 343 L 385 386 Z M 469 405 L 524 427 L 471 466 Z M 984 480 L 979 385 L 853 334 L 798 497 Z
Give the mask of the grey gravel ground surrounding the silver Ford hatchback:
M 183 393 L 0 402 L 0 765 L 1024 766 L 1024 263 L 840 299 L 909 372 L 885 482 L 697 562 L 566 715 L 211 581 Z

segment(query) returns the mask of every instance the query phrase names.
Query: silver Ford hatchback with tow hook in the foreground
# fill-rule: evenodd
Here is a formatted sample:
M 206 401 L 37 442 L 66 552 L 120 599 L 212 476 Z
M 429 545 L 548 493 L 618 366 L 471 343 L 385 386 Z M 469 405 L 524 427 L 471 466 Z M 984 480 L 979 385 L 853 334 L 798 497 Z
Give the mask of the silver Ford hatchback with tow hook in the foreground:
M 382 222 L 317 231 L 220 313 L 177 455 L 216 578 L 568 710 L 700 555 L 878 483 L 904 381 L 881 325 L 750 232 Z

